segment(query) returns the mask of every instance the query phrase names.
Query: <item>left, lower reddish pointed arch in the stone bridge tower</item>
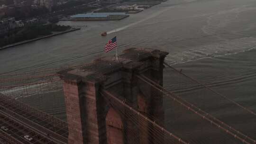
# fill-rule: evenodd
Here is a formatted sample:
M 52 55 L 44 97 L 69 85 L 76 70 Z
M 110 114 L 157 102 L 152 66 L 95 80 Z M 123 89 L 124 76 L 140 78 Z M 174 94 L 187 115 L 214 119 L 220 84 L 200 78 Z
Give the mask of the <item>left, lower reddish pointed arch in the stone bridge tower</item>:
M 119 113 L 110 108 L 106 117 L 108 144 L 124 144 L 123 123 Z

